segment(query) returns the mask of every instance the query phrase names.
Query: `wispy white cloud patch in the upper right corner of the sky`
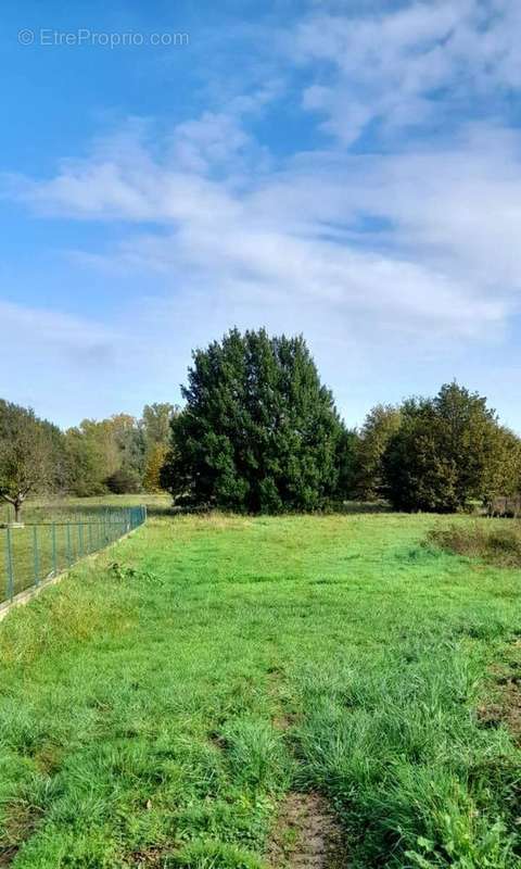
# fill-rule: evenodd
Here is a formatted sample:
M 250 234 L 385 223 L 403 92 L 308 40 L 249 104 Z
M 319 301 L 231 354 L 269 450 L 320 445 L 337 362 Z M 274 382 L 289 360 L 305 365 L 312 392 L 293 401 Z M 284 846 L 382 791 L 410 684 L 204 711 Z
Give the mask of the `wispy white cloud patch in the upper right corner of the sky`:
M 343 143 L 370 122 L 387 131 L 421 127 L 440 113 L 449 125 L 472 100 L 521 85 L 517 0 L 412 2 L 372 15 L 313 13 L 288 40 L 315 73 L 305 109 Z M 465 102 L 466 101 L 466 102 Z M 449 111 L 453 106 L 453 111 Z

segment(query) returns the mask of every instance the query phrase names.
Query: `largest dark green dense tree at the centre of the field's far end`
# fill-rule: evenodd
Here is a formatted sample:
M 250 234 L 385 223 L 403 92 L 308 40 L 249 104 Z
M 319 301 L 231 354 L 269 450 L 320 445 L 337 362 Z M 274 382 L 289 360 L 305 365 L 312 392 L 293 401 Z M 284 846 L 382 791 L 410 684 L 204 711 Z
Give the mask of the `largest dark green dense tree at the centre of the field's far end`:
M 302 337 L 233 329 L 188 380 L 163 475 L 180 502 L 278 513 L 335 495 L 342 426 Z

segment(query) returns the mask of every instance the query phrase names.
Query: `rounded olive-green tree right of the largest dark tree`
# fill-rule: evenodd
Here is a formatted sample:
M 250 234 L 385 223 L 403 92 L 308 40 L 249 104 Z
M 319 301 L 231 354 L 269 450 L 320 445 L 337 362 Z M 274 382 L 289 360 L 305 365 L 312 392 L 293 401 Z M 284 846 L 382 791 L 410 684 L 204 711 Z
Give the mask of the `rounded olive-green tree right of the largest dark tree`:
M 384 488 L 397 509 L 449 513 L 488 495 L 499 426 L 486 399 L 457 383 L 410 399 L 390 439 Z M 497 484 L 497 478 L 496 478 Z

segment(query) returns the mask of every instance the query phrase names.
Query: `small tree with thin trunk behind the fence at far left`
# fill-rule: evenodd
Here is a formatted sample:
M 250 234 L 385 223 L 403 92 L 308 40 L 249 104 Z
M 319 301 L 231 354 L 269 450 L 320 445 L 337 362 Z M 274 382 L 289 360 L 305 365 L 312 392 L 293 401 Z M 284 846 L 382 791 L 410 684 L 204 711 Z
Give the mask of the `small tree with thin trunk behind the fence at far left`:
M 0 498 L 21 520 L 27 496 L 51 482 L 52 462 L 43 425 L 33 411 L 0 400 Z

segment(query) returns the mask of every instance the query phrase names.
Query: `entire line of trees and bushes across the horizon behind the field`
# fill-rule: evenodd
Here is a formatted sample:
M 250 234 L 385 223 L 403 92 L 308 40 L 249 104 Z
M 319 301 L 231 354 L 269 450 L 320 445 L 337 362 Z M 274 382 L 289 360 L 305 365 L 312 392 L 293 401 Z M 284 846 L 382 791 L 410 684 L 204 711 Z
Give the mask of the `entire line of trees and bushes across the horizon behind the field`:
M 456 382 L 345 426 L 302 336 L 232 329 L 193 353 L 185 405 L 150 404 L 62 432 L 0 401 L 0 494 L 170 492 L 242 513 L 385 499 L 448 513 L 521 491 L 521 441 Z M 20 504 L 18 504 L 20 506 Z

